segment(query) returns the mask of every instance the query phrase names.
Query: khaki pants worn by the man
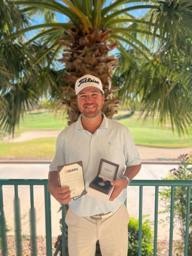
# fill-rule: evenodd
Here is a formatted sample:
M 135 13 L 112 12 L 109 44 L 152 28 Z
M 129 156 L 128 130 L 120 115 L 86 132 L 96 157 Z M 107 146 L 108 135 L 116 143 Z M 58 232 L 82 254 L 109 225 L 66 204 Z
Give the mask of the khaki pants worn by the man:
M 69 256 L 94 256 L 97 240 L 102 256 L 127 256 L 129 214 L 124 203 L 114 214 L 107 215 L 92 220 L 74 214 L 69 207 L 65 217 Z

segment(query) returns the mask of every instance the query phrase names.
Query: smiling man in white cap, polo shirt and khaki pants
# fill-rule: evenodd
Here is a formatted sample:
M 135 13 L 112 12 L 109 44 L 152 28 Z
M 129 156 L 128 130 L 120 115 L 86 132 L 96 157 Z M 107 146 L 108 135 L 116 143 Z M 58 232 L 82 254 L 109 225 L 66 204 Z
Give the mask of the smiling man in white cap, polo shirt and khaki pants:
M 101 112 L 105 96 L 101 80 L 92 75 L 75 84 L 81 115 L 58 136 L 56 153 L 49 167 L 49 192 L 58 202 L 69 203 L 69 256 L 94 256 L 99 240 L 102 256 L 127 256 L 129 214 L 124 205 L 127 186 L 141 168 L 141 159 L 130 131 Z M 57 166 L 83 162 L 85 189 L 97 175 L 100 159 L 120 165 L 109 202 L 83 195 L 71 200 L 69 187 L 60 188 Z

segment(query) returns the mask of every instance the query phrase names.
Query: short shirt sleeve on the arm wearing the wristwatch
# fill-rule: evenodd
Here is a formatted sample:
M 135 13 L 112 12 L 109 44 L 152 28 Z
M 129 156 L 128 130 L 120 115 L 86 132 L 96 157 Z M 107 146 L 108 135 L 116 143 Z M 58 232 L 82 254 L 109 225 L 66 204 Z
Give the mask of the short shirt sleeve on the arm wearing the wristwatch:
M 139 165 L 141 163 L 141 158 L 139 156 L 136 145 L 133 141 L 132 134 L 129 129 L 126 128 L 125 131 L 125 141 L 124 141 L 124 155 L 125 155 L 125 165 Z

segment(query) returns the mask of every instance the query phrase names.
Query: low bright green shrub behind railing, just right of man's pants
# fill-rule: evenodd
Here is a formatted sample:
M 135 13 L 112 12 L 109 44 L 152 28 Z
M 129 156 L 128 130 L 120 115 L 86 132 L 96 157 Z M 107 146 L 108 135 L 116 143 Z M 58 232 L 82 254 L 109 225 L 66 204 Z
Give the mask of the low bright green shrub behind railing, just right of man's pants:
M 139 249 L 139 220 L 130 217 L 128 225 L 129 231 L 129 243 L 128 243 L 128 255 L 138 256 Z M 153 255 L 153 233 L 149 220 L 145 220 L 142 223 L 142 256 Z

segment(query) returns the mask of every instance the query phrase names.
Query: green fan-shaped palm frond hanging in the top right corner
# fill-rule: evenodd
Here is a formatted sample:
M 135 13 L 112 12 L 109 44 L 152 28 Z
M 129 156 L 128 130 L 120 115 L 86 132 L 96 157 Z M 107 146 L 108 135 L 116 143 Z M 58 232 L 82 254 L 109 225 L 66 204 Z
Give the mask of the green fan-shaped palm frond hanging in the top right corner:
M 158 1 L 153 0 L 156 4 Z M 162 0 L 158 9 L 152 13 L 154 20 L 154 39 L 159 31 L 161 45 L 168 47 L 174 44 L 178 48 L 177 38 L 192 38 L 192 4 L 188 0 Z M 166 35 L 166 36 L 165 36 Z

